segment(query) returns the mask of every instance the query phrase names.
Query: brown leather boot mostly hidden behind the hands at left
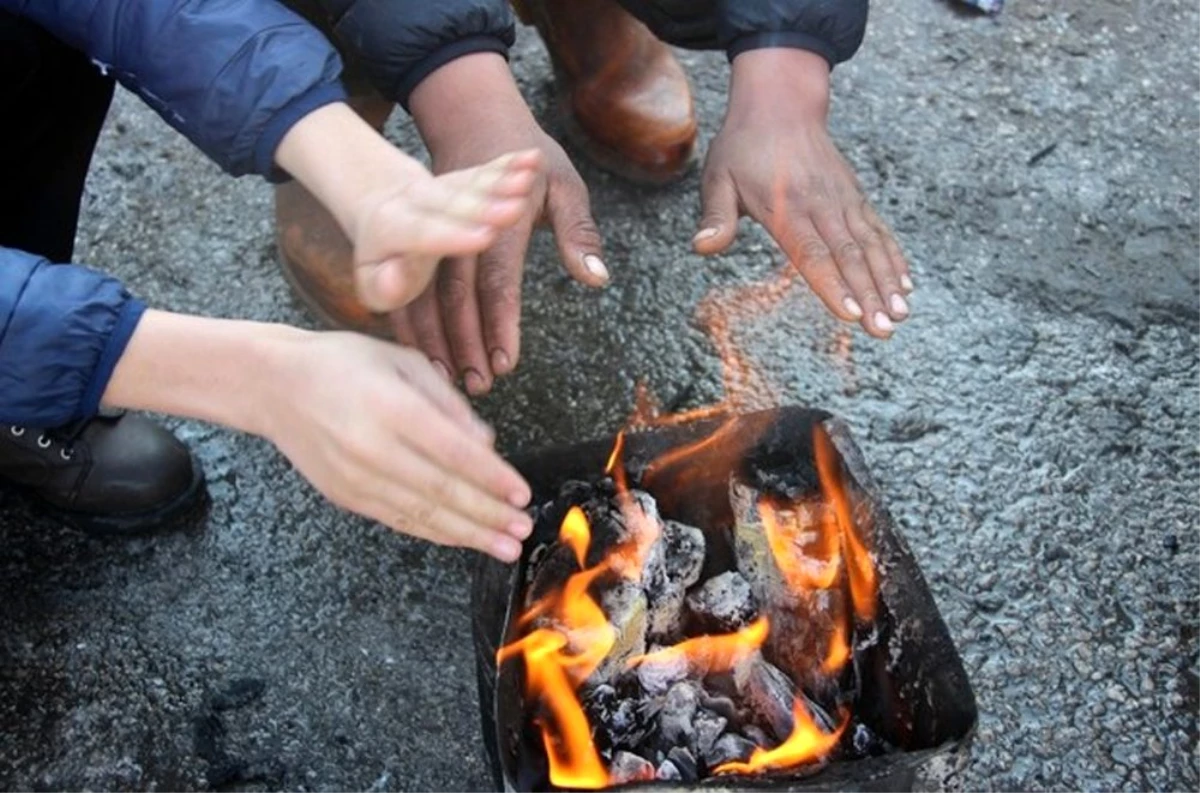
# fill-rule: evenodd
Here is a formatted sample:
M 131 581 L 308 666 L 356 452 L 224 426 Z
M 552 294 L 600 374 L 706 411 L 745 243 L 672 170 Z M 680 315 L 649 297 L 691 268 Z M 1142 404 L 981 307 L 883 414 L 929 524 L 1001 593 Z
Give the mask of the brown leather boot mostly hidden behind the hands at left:
M 394 104 L 380 96 L 361 96 L 353 97 L 350 107 L 376 130 L 383 130 Z M 322 324 L 394 338 L 388 317 L 359 302 L 350 241 L 300 182 L 275 188 L 275 232 L 283 277 Z

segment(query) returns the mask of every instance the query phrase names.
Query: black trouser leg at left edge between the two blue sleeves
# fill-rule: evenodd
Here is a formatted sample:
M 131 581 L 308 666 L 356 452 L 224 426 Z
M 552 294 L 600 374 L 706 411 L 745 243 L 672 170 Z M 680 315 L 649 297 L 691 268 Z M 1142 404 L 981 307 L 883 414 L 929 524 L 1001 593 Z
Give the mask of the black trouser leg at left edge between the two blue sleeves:
M 113 79 L 0 11 L 0 245 L 70 262 Z

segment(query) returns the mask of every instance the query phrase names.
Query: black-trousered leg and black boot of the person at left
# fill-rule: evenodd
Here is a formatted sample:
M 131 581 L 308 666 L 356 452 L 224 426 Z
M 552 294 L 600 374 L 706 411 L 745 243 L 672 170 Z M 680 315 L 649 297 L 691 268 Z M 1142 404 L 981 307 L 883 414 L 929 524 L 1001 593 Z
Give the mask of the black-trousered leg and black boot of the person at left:
M 112 79 L 83 54 L 0 12 L 0 107 L 6 119 L 20 120 L 0 125 L 0 246 L 71 260 L 112 94 Z M 22 346 L 17 334 L 7 329 L 6 346 Z M 46 353 L 30 343 L 29 354 Z M 170 524 L 203 494 L 187 449 L 150 420 L 121 413 L 65 427 L 0 425 L 0 483 L 101 534 Z

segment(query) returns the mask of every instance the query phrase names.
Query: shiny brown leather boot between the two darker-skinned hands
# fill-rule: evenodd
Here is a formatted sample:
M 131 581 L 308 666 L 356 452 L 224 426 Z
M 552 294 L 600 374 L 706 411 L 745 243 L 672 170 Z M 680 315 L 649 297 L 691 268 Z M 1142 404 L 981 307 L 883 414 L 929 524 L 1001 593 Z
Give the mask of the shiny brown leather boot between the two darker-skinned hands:
M 566 134 L 598 166 L 640 184 L 695 161 L 696 113 L 683 66 L 617 0 L 512 0 L 550 50 Z

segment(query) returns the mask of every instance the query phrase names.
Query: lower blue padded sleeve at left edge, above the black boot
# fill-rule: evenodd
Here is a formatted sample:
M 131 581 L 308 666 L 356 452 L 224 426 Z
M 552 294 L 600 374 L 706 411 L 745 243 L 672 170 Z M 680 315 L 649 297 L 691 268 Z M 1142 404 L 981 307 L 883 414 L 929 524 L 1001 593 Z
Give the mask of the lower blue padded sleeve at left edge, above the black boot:
M 108 276 L 0 247 L 0 422 L 94 415 L 144 312 Z

